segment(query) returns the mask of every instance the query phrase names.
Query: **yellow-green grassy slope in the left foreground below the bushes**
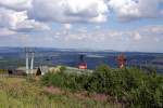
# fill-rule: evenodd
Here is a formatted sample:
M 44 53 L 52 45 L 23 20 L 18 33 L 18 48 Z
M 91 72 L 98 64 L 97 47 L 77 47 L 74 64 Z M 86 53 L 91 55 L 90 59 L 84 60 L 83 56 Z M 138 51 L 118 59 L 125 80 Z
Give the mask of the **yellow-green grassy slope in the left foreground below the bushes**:
M 115 108 L 118 106 L 80 99 L 68 94 L 47 94 L 37 83 L 23 78 L 0 79 L 0 108 Z

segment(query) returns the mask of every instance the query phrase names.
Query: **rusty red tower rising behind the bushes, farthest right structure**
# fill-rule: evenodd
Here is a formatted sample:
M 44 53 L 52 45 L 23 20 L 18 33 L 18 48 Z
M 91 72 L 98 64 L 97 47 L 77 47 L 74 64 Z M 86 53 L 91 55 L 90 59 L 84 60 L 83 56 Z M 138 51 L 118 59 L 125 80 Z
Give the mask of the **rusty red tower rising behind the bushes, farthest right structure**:
M 125 65 L 126 65 L 126 57 L 125 57 L 124 54 L 120 54 L 117 56 L 117 64 L 118 64 L 118 68 L 121 68 L 121 69 L 125 67 Z

